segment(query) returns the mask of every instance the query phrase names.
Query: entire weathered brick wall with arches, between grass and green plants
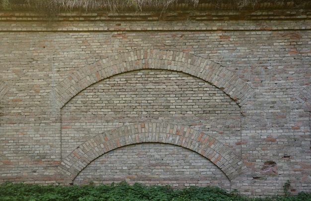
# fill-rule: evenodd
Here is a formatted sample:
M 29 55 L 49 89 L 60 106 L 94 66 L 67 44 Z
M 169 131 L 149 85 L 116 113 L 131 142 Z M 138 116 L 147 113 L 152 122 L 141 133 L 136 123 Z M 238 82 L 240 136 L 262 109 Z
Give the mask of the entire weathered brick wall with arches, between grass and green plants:
M 0 11 L 0 182 L 311 191 L 311 11 Z

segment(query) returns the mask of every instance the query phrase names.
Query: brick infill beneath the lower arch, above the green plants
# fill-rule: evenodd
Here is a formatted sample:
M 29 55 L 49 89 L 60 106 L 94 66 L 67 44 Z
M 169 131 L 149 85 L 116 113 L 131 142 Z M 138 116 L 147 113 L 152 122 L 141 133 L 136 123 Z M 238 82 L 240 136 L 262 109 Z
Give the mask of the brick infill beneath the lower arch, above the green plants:
M 129 145 L 108 152 L 82 170 L 74 184 L 112 181 L 168 184 L 174 188 L 215 185 L 231 190 L 226 175 L 206 158 L 180 146 L 160 143 Z

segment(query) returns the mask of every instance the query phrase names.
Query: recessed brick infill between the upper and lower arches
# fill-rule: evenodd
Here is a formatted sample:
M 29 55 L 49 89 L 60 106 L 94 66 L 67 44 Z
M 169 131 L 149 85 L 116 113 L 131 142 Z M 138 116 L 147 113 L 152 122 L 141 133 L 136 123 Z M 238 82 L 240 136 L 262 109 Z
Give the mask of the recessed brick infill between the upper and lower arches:
M 141 122 L 198 129 L 240 153 L 240 109 L 208 82 L 169 70 L 115 75 L 80 92 L 61 110 L 62 155 L 90 136 Z

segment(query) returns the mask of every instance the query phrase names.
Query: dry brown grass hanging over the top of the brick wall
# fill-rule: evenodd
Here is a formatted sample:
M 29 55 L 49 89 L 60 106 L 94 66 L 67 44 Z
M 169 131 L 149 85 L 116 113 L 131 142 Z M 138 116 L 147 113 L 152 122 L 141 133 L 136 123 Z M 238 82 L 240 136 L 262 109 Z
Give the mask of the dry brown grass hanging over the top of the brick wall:
M 164 11 L 177 3 L 185 3 L 195 7 L 198 3 L 213 3 L 215 8 L 222 3 L 231 4 L 232 8 L 244 9 L 255 7 L 257 3 L 294 2 L 297 7 L 309 3 L 310 0 L 0 0 L 2 9 L 10 10 L 11 5 L 27 4 L 29 8 L 45 13 L 47 16 L 55 16 L 60 10 L 72 11 L 78 9 L 82 12 L 94 10 L 107 10 L 114 12 L 159 10 Z

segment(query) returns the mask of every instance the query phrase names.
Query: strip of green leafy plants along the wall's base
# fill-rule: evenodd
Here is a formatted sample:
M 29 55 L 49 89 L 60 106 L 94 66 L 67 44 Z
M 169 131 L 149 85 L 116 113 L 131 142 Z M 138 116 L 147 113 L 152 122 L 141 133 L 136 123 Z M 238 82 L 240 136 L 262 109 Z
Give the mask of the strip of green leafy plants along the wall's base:
M 311 201 L 311 193 L 255 200 Z M 174 190 L 170 186 L 129 185 L 126 182 L 98 186 L 41 186 L 5 182 L 0 185 L 0 201 L 254 201 L 254 198 L 210 186 Z

